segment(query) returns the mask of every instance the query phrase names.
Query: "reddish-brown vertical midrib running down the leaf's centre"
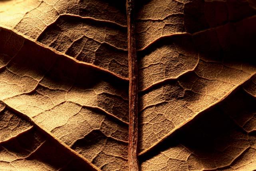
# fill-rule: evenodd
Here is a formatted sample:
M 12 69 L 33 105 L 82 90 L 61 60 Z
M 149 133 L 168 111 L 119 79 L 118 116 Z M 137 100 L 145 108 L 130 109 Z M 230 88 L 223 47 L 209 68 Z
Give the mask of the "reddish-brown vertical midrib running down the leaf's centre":
M 128 65 L 129 65 L 129 146 L 128 165 L 130 171 L 139 171 L 138 144 L 138 68 L 135 47 L 134 2 L 127 0 Z

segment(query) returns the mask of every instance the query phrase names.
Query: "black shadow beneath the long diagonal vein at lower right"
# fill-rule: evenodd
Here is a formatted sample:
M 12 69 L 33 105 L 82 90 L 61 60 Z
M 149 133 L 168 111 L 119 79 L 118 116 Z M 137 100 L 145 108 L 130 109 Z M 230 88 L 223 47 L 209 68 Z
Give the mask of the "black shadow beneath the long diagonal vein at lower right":
M 248 147 L 255 146 L 255 132 L 248 134 L 242 128 L 246 121 L 244 119 L 252 117 L 256 112 L 255 103 L 256 99 L 242 88 L 232 92 L 219 105 L 200 113 L 154 150 L 141 155 L 140 161 L 182 145 L 192 153 L 192 157 L 207 165 L 208 169 L 233 163 Z

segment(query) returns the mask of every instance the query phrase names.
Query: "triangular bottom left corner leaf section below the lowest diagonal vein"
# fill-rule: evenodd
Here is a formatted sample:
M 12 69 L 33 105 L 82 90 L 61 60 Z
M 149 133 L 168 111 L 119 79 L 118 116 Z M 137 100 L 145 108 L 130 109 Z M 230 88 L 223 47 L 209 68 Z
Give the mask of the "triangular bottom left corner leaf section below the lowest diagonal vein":
M 2 102 L 1 107 L 1 121 L 8 119 L 1 135 L 9 135 L 1 137 L 1 170 L 95 170 Z

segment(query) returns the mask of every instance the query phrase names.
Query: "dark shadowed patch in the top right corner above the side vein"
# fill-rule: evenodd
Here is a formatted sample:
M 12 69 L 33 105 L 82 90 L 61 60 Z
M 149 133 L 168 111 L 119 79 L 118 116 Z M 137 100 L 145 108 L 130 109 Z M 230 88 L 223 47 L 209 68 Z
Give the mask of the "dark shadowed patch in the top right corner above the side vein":
M 255 14 L 256 10 L 246 1 L 193 0 L 185 4 L 185 28 L 187 32 L 194 33 L 228 22 L 236 22 Z

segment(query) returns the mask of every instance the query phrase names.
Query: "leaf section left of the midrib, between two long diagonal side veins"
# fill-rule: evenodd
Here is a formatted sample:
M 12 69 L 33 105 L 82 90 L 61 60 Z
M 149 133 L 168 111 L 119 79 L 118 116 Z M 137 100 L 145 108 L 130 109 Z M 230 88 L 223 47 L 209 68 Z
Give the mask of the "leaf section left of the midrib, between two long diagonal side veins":
M 127 167 L 126 82 L 120 80 L 117 86 L 107 73 L 87 68 L 12 32 L 0 33 L 6 37 L 1 49 L 6 57 L 0 73 L 1 100 L 97 167 Z M 11 41 L 16 46 L 20 43 L 17 51 L 8 48 Z M 32 50 L 27 53 L 27 48 Z M 105 74 L 103 79 L 101 74 Z M 89 79 L 90 75 L 94 79 Z

